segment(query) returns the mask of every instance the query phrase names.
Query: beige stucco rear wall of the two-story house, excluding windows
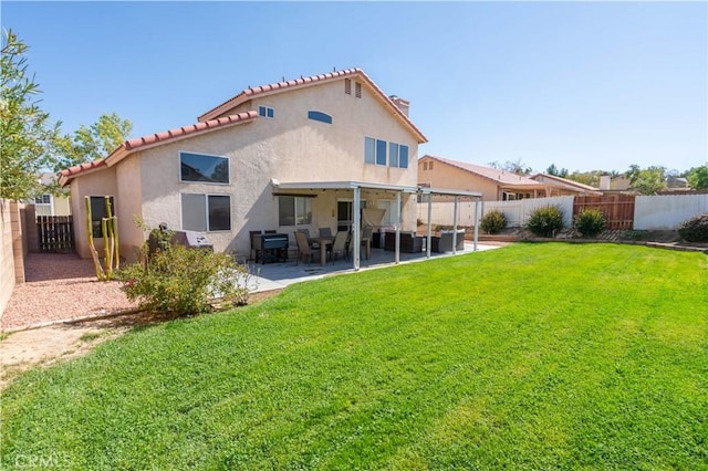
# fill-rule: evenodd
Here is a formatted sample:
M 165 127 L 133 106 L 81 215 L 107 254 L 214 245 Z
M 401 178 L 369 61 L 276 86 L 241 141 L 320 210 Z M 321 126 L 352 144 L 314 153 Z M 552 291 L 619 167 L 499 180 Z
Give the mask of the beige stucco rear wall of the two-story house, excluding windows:
M 287 181 L 360 180 L 391 185 L 416 185 L 418 146 L 415 137 L 365 90 L 362 98 L 344 94 L 343 82 L 320 85 L 253 101 L 274 109 L 274 118 L 237 125 L 143 151 L 140 191 L 145 221 L 154 227 L 166 222 L 181 228 L 180 192 L 231 195 L 230 232 L 209 232 L 218 251 L 250 252 L 250 230 L 275 229 L 278 198 L 271 179 Z M 325 124 L 308 118 L 314 109 L 332 116 Z M 364 164 L 364 137 L 408 146 L 408 168 Z M 230 185 L 179 181 L 179 151 L 204 153 L 230 158 Z M 311 192 L 312 193 L 312 192 Z M 336 227 L 337 199 L 352 199 L 345 191 L 317 191 L 313 200 L 313 229 Z M 364 193 L 376 206 L 384 195 Z M 388 195 L 384 199 L 394 199 Z M 405 228 L 415 229 L 416 206 L 405 205 Z M 404 201 L 405 201 L 404 200 Z M 371 202 L 369 202 L 371 201 Z

